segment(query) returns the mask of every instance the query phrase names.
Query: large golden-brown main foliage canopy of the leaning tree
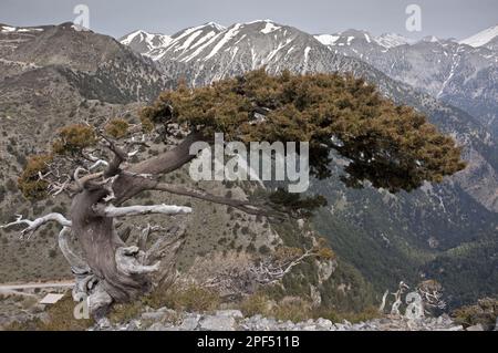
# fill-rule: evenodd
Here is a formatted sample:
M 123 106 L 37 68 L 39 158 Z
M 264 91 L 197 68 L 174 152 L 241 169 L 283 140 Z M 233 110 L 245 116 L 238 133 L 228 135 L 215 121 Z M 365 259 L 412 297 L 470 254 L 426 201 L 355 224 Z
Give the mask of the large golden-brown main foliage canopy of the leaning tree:
M 427 118 L 395 105 L 361 79 L 339 74 L 272 76 L 257 70 L 210 86 L 180 85 L 142 112 L 142 123 L 179 124 L 227 141 L 309 142 L 315 177 L 331 175 L 331 150 L 347 159 L 343 180 L 390 191 L 440 183 L 463 168 L 460 148 Z

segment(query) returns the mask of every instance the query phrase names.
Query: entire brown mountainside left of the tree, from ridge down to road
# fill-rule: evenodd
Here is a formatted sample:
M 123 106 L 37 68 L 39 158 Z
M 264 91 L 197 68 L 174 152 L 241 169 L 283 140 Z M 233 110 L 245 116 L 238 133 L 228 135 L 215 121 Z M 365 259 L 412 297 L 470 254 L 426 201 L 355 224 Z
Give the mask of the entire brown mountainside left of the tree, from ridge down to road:
M 151 61 L 110 37 L 72 23 L 33 28 L 0 27 L 0 222 L 14 214 L 33 217 L 65 210 L 69 199 L 27 201 L 17 178 L 27 156 L 46 148 L 71 122 L 125 114 L 135 102 L 153 100 L 167 87 Z M 0 229 L 0 282 L 70 276 L 56 251 L 56 229 L 31 241 Z

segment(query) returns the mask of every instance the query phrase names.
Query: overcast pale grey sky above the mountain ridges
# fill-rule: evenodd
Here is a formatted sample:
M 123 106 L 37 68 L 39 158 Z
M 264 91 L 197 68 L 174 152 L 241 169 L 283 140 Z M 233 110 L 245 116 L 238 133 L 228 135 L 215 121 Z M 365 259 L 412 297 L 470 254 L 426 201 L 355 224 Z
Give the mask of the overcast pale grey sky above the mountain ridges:
M 310 33 L 350 28 L 411 38 L 463 39 L 498 24 L 498 0 L 0 0 L 0 23 L 73 21 L 74 6 L 90 8 L 93 31 L 120 38 L 136 29 L 173 34 L 208 21 L 229 25 L 271 19 Z M 422 32 L 405 29 L 405 9 L 422 8 Z

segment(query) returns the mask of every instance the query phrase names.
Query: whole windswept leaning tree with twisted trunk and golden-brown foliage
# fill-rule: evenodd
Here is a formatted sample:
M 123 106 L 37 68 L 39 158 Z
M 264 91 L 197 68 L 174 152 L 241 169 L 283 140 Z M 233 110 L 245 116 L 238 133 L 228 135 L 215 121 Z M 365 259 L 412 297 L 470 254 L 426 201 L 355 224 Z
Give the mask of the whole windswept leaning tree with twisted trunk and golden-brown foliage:
M 30 158 L 19 187 L 28 198 L 69 193 L 73 198 L 70 215 L 50 214 L 33 221 L 20 218 L 8 226 L 25 225 L 27 235 L 48 221 L 59 222 L 61 250 L 79 279 L 75 292 L 89 294 L 93 314 L 101 316 L 113 302 L 147 292 L 152 273 L 159 271 L 164 280 L 172 266 L 157 261 L 165 249 L 175 252 L 178 248 L 176 242 L 159 242 L 155 251 L 127 247 L 115 229 L 115 218 L 191 211 L 165 205 L 123 206 L 141 193 L 189 196 L 267 217 L 281 217 L 283 211 L 308 215 L 301 210 L 323 205 L 320 197 L 281 190 L 258 203 L 159 180 L 195 158 L 189 147 L 196 142 L 212 143 L 215 133 L 243 143 L 309 142 L 311 173 L 318 178 L 331 175 L 334 152 L 347 160 L 343 180 L 351 187 L 370 183 L 392 193 L 409 191 L 465 167 L 452 137 L 363 80 L 289 72 L 270 76 L 259 70 L 207 87 L 180 84 L 144 108 L 139 122 L 112 117 L 61 129 L 48 154 Z M 137 154 L 137 145 L 147 146 L 151 138 L 169 148 L 148 158 Z M 71 251 L 70 236 L 80 242 L 83 258 Z

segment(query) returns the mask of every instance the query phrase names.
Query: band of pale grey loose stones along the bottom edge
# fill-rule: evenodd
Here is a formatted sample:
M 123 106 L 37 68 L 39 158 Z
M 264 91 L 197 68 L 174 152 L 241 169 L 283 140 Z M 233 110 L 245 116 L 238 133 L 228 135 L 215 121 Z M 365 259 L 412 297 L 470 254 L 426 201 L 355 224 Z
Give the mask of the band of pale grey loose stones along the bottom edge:
M 219 310 L 210 314 L 178 313 L 167 308 L 148 310 L 138 319 L 126 323 L 95 325 L 92 331 L 464 331 L 448 315 L 407 320 L 398 316 L 386 316 L 366 322 L 333 323 L 318 319 L 299 323 L 279 321 L 255 315 L 245 318 L 239 310 Z M 467 331 L 484 331 L 471 328 Z

